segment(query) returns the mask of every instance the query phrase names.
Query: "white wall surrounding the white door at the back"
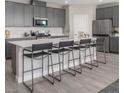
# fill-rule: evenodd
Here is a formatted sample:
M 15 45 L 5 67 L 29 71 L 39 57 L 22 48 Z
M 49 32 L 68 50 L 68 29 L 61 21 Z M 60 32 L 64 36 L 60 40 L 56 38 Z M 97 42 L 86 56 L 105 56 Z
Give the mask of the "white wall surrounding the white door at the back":
M 70 37 L 74 36 L 74 26 L 73 26 L 73 16 L 76 14 L 88 15 L 89 16 L 89 34 L 92 35 L 92 20 L 96 19 L 96 6 L 88 6 L 88 5 L 78 5 L 78 6 L 68 6 L 69 8 L 69 28 Z M 66 29 L 67 30 L 67 29 Z

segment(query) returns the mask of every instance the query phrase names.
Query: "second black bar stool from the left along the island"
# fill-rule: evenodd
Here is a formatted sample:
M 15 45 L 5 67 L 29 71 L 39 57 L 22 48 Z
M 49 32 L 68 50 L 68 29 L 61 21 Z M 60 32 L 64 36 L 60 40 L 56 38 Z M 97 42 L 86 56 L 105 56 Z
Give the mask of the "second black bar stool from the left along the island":
M 71 71 L 68 71 L 70 68 L 70 61 L 73 62 L 73 69 L 75 70 L 73 45 L 74 45 L 73 40 L 61 41 L 61 42 L 59 42 L 58 46 L 54 46 L 54 48 L 57 48 L 57 49 L 52 50 L 52 53 L 58 54 L 58 61 L 59 62 L 57 64 L 59 64 L 59 78 L 54 77 L 58 81 L 61 81 L 61 75 L 62 75 L 61 70 L 65 71 L 65 72 L 67 72 L 73 76 L 76 75 L 75 71 L 73 71 L 74 73 L 72 73 Z M 70 53 L 72 54 L 72 59 L 70 59 Z M 68 55 L 68 70 L 64 69 L 64 56 L 65 55 Z M 62 61 L 60 60 L 60 56 L 62 56 Z M 57 65 L 57 64 L 55 64 L 55 65 Z M 61 66 L 62 66 L 62 69 L 61 69 Z

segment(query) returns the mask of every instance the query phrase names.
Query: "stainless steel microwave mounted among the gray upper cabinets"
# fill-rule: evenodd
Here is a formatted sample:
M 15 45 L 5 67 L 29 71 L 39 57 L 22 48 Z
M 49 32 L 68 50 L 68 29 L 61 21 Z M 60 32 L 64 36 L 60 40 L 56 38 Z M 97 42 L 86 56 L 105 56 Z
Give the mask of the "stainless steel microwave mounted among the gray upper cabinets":
M 35 27 L 47 27 L 48 19 L 47 18 L 34 18 L 33 24 Z

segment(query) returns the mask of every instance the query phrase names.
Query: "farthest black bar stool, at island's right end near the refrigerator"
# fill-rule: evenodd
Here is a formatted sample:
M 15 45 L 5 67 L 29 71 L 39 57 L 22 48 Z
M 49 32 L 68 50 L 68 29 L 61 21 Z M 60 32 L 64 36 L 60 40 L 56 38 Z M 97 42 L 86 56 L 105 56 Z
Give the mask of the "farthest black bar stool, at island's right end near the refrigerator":
M 106 64 L 106 45 L 105 45 L 105 37 L 98 37 L 96 41 L 93 41 L 91 44 L 90 44 L 91 47 L 93 47 L 93 61 L 96 62 L 96 64 L 92 64 L 92 66 L 95 66 L 95 67 L 98 67 L 99 64 L 98 63 L 103 63 L 103 64 Z M 96 60 L 94 60 L 94 55 L 95 55 L 95 48 L 102 48 L 103 50 L 103 54 L 104 54 L 104 62 L 101 62 L 98 60 L 98 53 L 97 53 L 97 49 L 96 49 Z

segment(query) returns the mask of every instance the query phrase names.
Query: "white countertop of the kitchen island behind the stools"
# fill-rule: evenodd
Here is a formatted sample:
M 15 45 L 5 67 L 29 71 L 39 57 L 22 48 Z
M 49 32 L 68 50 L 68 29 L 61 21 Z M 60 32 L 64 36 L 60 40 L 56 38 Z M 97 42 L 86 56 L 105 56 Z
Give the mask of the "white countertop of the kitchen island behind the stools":
M 82 38 L 82 39 L 91 39 L 91 40 L 96 40 L 96 38 L 94 37 L 89 37 L 89 38 Z M 22 47 L 22 48 L 26 48 L 26 47 L 31 47 L 32 44 L 43 44 L 43 43 L 53 43 L 53 44 L 57 44 L 60 41 L 66 41 L 66 40 L 74 40 L 76 41 L 80 41 L 79 38 L 54 38 L 54 39 L 37 39 L 37 40 L 22 40 L 22 41 L 10 41 L 9 43 Z

